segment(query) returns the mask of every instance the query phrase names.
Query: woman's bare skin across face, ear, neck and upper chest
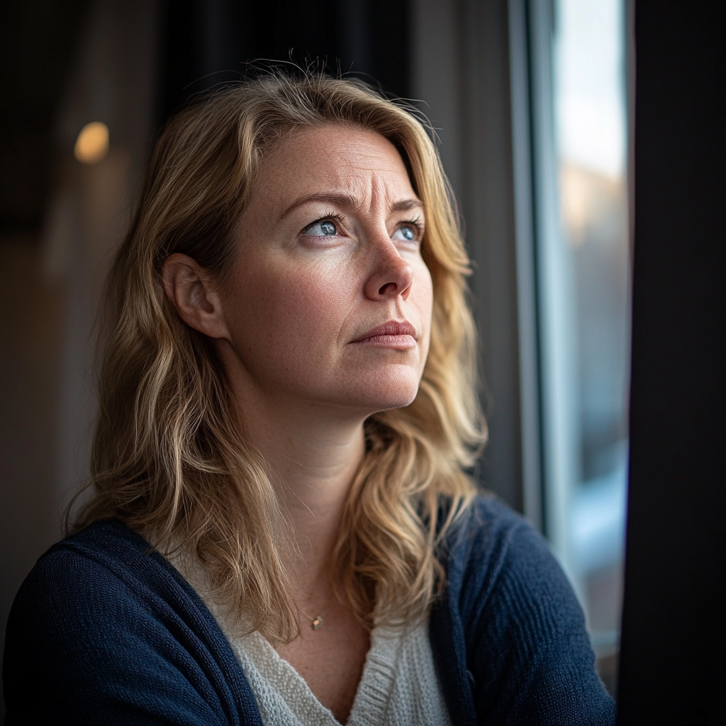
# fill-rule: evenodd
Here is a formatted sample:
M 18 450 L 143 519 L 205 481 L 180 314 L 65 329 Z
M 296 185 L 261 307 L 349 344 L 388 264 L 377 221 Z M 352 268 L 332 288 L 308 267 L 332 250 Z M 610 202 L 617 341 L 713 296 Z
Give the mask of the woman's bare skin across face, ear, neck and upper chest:
M 423 374 L 433 301 L 424 224 L 395 147 L 327 125 L 294 131 L 265 160 L 224 288 L 187 256 L 164 266 L 181 318 L 216 341 L 242 433 L 293 523 L 301 636 L 278 650 L 341 722 L 370 638 L 333 597 L 330 553 L 364 420 L 411 403 Z M 372 335 L 391 321 L 409 327 Z M 325 625 L 313 631 L 318 614 Z

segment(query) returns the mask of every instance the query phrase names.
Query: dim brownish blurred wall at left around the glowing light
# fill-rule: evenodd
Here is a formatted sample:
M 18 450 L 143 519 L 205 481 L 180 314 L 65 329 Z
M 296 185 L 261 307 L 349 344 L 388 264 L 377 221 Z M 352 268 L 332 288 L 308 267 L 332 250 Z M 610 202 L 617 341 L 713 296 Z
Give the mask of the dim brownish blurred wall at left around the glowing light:
M 2 642 L 17 588 L 59 539 L 65 503 L 88 473 L 94 323 L 155 131 L 157 25 L 155 1 L 86 6 L 54 122 L 44 224 L 0 240 Z M 110 128 L 108 155 L 91 166 L 73 158 L 89 121 Z

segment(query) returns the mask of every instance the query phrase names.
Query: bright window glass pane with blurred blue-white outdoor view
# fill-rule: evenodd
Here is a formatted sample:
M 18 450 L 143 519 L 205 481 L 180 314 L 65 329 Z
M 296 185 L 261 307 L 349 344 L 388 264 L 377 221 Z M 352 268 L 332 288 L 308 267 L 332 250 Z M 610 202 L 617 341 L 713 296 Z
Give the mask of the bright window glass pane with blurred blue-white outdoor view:
M 593 645 L 619 640 L 627 481 L 629 224 L 622 0 L 554 0 L 550 226 L 538 235 L 545 529 Z M 542 217 L 541 219 L 545 219 Z M 542 230 L 541 230 L 542 232 Z M 603 673 L 605 678 L 610 673 Z

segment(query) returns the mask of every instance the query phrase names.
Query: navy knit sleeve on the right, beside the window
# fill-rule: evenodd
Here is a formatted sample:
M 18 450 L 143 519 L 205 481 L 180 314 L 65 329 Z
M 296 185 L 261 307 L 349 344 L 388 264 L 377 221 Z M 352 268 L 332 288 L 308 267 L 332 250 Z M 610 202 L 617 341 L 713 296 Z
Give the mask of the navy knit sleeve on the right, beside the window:
M 468 671 L 459 690 L 470 693 L 477 723 L 615 722 L 582 609 L 546 542 L 523 518 L 480 499 L 448 569 L 450 637 L 459 669 L 465 662 Z

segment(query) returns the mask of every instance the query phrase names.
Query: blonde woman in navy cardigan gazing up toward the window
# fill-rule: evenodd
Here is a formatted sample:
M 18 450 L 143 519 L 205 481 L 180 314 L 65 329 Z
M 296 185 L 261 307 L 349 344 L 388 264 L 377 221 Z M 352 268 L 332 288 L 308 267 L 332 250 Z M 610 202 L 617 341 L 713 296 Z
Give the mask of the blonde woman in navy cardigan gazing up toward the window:
M 613 722 L 546 545 L 464 473 L 467 273 L 433 144 L 367 87 L 273 73 L 174 118 L 7 723 Z

